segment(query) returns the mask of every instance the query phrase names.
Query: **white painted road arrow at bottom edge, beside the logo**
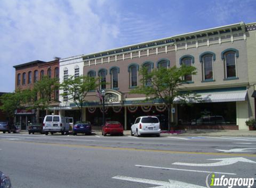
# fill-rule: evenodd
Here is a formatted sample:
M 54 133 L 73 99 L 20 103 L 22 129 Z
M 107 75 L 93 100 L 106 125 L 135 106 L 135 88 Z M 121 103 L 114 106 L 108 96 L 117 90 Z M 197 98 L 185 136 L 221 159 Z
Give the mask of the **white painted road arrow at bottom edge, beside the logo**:
M 199 185 L 188 184 L 188 183 L 185 183 L 182 181 L 176 181 L 176 180 L 169 180 L 169 182 L 167 182 L 167 181 L 148 180 L 148 179 L 142 179 L 142 178 L 126 177 L 126 176 L 114 176 L 112 178 L 117 180 L 133 181 L 133 182 L 143 183 L 143 184 L 158 185 L 157 187 L 151 187 L 151 188 L 206 188 Z

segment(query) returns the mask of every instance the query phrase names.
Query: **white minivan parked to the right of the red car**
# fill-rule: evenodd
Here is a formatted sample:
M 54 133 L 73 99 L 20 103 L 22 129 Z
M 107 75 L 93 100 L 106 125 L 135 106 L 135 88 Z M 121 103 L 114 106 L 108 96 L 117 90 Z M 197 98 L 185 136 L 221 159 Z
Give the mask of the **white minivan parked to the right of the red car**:
M 155 116 L 141 116 L 135 120 L 135 123 L 131 126 L 130 134 L 137 136 L 152 134 L 160 136 L 160 123 L 159 119 Z

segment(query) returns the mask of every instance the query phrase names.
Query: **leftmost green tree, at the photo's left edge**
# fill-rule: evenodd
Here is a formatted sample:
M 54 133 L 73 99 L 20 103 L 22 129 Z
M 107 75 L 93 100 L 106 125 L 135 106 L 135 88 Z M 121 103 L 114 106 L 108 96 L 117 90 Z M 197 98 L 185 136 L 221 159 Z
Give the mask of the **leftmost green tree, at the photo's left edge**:
M 0 109 L 8 115 L 8 118 L 14 118 L 15 110 L 17 110 L 24 101 L 24 95 L 21 90 L 17 90 L 17 92 L 3 94 L 0 97 L 0 101 L 2 103 Z

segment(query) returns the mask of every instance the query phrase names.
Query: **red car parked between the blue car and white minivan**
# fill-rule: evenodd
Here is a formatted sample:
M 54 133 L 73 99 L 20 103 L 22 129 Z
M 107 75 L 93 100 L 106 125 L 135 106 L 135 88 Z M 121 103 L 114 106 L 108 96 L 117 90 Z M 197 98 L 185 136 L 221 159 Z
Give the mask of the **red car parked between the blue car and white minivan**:
M 105 125 L 102 127 L 102 135 L 120 135 L 124 134 L 124 128 L 121 123 L 109 121 L 106 122 Z

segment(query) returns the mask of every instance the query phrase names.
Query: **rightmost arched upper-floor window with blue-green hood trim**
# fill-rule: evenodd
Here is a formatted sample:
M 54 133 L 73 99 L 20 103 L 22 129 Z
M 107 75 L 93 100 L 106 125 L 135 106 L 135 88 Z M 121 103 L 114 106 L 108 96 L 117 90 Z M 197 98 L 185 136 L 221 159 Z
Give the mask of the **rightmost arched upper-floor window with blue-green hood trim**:
M 224 60 L 225 79 L 237 78 L 236 59 L 239 57 L 237 49 L 226 49 L 222 52 L 222 60 Z

